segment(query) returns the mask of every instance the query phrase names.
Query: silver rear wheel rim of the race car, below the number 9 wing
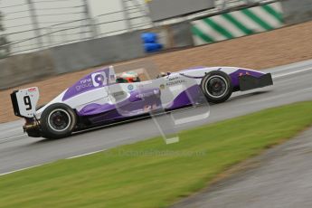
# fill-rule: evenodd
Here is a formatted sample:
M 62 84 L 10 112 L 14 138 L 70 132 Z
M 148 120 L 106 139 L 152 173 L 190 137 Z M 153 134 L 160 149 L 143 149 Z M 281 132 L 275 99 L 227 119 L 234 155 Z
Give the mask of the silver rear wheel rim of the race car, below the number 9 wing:
M 53 109 L 49 114 L 48 123 L 54 131 L 64 131 L 71 125 L 71 116 L 64 109 Z

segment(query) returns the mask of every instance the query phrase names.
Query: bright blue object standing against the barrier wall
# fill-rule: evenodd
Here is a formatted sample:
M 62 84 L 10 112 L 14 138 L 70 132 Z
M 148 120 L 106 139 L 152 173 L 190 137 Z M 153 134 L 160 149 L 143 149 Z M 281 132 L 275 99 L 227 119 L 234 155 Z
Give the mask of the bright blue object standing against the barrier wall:
M 141 39 L 145 52 L 159 52 L 163 49 L 163 44 L 158 43 L 158 37 L 156 33 L 142 33 Z

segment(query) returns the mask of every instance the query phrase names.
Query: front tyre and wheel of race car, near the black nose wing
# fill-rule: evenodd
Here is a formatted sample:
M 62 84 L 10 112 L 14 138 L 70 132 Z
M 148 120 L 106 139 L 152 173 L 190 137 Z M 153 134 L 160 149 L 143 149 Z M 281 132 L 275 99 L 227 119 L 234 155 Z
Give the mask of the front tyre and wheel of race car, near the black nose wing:
M 232 81 L 223 71 L 211 71 L 203 77 L 201 89 L 208 102 L 221 103 L 231 97 Z

